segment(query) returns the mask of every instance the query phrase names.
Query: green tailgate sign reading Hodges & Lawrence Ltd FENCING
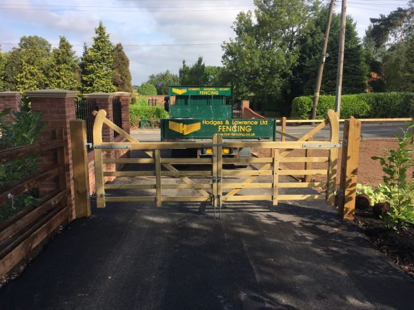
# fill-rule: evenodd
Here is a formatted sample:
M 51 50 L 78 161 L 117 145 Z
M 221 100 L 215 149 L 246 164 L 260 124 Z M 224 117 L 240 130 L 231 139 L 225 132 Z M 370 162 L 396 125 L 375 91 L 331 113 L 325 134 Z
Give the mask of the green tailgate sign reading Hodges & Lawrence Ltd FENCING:
M 273 119 L 163 119 L 164 138 L 268 138 L 274 136 Z

